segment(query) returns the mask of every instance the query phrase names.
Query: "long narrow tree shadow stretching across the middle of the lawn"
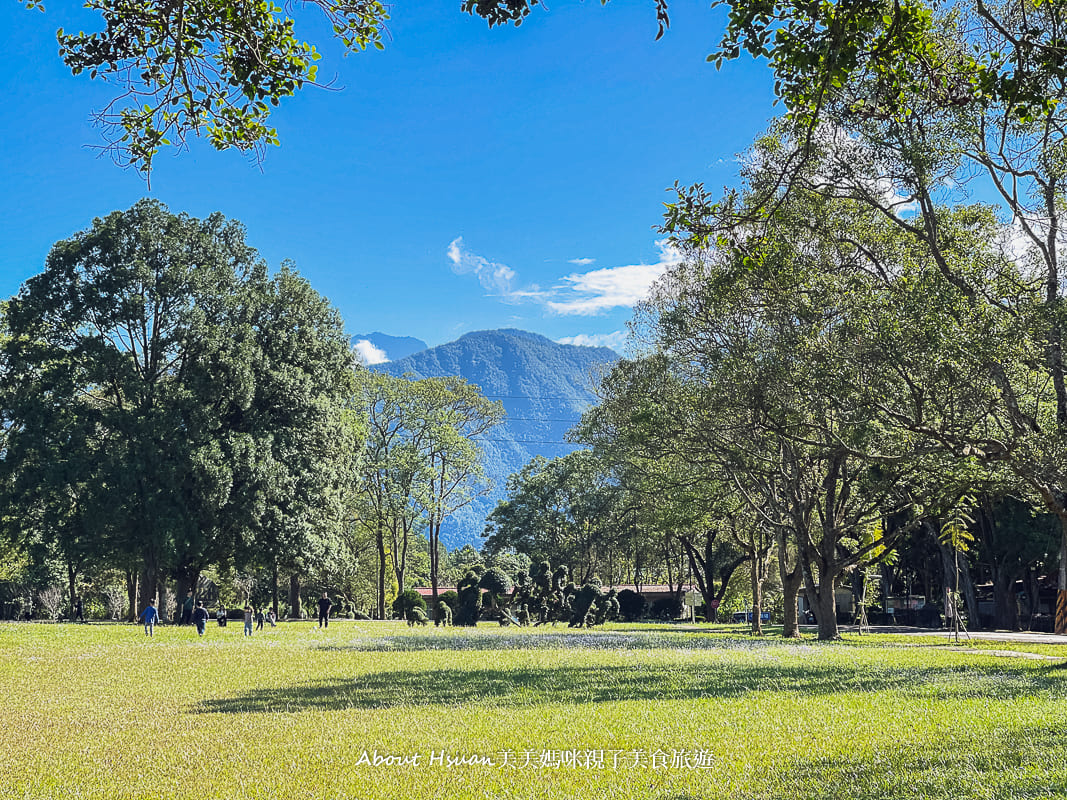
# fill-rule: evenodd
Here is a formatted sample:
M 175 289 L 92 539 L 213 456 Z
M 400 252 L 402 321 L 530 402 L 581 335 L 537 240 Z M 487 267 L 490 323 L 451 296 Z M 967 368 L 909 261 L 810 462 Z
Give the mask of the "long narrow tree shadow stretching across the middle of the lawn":
M 202 714 L 248 714 L 403 706 L 495 707 L 560 703 L 739 698 L 752 692 L 800 695 L 876 693 L 935 699 L 989 699 L 1065 693 L 1065 683 L 1041 670 L 993 668 L 862 668 L 843 672 L 818 665 L 517 667 L 392 670 L 353 678 L 252 689 L 206 700 Z

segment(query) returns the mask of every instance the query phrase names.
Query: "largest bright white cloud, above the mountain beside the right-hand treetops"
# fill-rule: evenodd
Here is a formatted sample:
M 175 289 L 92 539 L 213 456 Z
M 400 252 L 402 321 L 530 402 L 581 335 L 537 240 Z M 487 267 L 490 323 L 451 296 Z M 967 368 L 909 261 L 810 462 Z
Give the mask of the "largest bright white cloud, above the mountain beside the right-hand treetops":
M 648 297 L 652 284 L 682 261 L 682 253 L 666 239 L 657 241 L 656 247 L 659 249 L 659 260 L 655 263 L 610 267 L 566 275 L 563 281 L 567 283 L 558 287 L 559 299 L 550 300 L 545 305 L 556 314 L 592 316 L 640 303 Z

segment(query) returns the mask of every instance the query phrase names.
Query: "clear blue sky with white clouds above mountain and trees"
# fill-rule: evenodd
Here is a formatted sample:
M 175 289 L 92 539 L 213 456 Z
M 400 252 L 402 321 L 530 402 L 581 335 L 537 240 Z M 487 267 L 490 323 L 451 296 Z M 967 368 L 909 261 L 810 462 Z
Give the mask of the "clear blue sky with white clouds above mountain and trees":
M 154 196 L 243 222 L 351 333 L 432 346 L 521 327 L 618 345 L 673 257 L 654 230 L 666 189 L 734 181 L 736 154 L 777 111 L 770 74 L 705 63 L 722 25 L 708 2 L 672 0 L 659 42 L 651 2 L 557 0 L 493 31 L 459 5 L 395 3 L 385 50 L 348 58 L 305 27 L 336 90 L 275 111 L 282 145 L 261 165 L 194 142 L 157 158 L 150 191 L 92 147 L 109 87 L 57 54 L 55 29 L 93 18 L 59 0 L 0 5 L 0 295 L 57 240 Z

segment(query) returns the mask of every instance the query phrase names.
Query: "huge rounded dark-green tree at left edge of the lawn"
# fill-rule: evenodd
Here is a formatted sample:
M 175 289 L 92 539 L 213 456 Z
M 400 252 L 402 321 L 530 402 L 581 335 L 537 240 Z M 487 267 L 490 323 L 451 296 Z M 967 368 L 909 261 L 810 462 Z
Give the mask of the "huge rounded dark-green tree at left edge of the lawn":
M 143 601 L 329 507 L 340 318 L 291 271 L 271 278 L 239 224 L 150 201 L 96 220 L 5 322 L 4 485 L 48 493 L 11 493 L 28 513 L 7 518 L 66 509 L 61 530 L 140 562 Z

